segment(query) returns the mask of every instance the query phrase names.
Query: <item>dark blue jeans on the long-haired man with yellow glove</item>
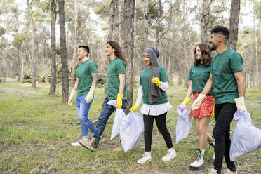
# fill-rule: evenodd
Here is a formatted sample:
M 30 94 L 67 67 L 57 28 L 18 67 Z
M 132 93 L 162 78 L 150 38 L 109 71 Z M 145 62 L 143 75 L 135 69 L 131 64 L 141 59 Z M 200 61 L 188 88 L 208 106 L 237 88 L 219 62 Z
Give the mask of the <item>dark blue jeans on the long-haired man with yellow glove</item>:
M 100 115 L 98 116 L 98 123 L 96 125 L 95 134 L 93 136 L 96 142 L 100 141 L 100 136 L 102 135 L 103 131 L 105 131 L 105 126 L 109 119 L 109 116 L 111 116 L 112 112 L 116 110 L 116 107 L 108 105 L 107 102 L 109 102 L 108 97 L 105 98 L 105 101 L 102 104 L 102 112 L 100 112 Z M 121 109 L 123 109 L 124 112 L 126 112 L 126 103 L 127 99 L 123 99 Z

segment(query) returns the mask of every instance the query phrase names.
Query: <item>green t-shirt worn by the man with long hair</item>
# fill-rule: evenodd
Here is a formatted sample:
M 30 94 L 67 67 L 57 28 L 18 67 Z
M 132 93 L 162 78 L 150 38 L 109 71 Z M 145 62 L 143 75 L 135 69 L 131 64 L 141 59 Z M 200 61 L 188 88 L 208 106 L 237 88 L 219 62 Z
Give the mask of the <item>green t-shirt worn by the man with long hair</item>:
M 125 74 L 125 86 L 123 91 L 123 98 L 127 98 L 126 93 L 126 65 L 123 60 L 115 58 L 112 62 L 109 62 L 108 67 L 108 90 L 107 97 L 109 99 L 116 99 L 119 93 L 119 74 Z

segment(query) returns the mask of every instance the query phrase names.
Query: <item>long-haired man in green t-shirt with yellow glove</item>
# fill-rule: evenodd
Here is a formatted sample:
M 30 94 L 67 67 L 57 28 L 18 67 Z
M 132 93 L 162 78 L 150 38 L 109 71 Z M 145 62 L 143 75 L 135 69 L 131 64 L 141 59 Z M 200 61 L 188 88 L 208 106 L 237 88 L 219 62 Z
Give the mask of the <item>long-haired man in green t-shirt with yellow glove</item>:
M 109 57 L 109 67 L 108 67 L 108 91 L 107 97 L 102 104 L 102 112 L 98 116 L 98 123 L 95 128 L 95 134 L 91 143 L 86 145 L 87 149 L 95 151 L 97 149 L 100 136 L 105 130 L 106 123 L 109 116 L 112 115 L 114 110 L 122 108 L 126 112 L 126 62 L 123 58 L 121 47 L 116 41 L 108 41 L 106 44 L 106 55 Z M 116 107 L 108 105 L 109 100 L 116 100 Z M 114 149 L 114 151 L 122 150 L 119 146 Z

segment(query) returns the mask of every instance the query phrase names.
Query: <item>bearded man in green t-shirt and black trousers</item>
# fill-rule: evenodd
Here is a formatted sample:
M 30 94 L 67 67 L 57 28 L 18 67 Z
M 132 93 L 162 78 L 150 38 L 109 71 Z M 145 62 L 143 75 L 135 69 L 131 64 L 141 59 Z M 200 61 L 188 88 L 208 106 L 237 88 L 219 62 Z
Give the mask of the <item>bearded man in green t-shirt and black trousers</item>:
M 198 109 L 203 98 L 213 88 L 215 95 L 215 161 L 210 174 L 221 173 L 223 156 L 227 163 L 227 173 L 236 173 L 234 161 L 230 161 L 230 123 L 236 109 L 246 110 L 245 79 L 241 55 L 227 48 L 229 29 L 217 26 L 211 30 L 210 49 L 217 55 L 212 59 L 210 77 L 199 97 L 193 102 L 192 109 Z

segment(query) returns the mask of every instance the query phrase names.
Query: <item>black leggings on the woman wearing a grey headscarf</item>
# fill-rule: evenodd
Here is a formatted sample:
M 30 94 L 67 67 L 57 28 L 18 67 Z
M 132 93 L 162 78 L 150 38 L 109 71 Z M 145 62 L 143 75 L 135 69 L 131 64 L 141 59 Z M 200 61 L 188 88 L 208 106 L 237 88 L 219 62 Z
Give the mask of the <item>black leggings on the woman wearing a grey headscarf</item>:
M 167 112 L 158 116 L 145 115 L 143 114 L 144 121 L 144 138 L 145 138 L 145 152 L 150 152 L 152 147 L 152 129 L 154 119 L 156 120 L 156 126 L 159 129 L 159 132 L 163 135 L 163 138 L 167 144 L 168 148 L 173 147 L 170 133 L 166 126 L 166 115 Z

